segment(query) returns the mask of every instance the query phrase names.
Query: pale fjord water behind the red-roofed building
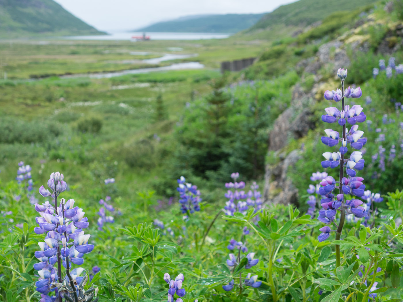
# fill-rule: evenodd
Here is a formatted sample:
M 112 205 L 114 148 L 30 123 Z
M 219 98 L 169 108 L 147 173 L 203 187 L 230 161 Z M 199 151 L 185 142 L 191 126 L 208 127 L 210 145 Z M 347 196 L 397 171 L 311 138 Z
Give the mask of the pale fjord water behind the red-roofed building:
M 62 37 L 66 40 L 132 40 L 133 36 L 142 36 L 143 32 L 110 32 L 108 35 Z M 225 39 L 229 33 L 145 33 L 151 40 L 205 40 Z

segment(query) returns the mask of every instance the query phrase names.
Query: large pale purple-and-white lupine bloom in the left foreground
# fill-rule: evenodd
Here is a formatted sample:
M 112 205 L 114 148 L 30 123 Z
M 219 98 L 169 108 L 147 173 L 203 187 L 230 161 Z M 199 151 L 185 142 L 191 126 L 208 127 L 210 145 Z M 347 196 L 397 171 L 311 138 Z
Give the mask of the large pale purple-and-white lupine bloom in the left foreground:
M 38 242 L 40 250 L 35 252 L 35 257 L 39 263 L 34 264 L 34 269 L 38 270 L 40 276 L 36 285 L 37 291 L 42 294 L 41 301 L 48 301 L 49 299 L 54 301 L 63 292 L 60 288 L 58 292 L 53 285 L 50 287 L 50 283 L 63 281 L 62 272 L 56 271 L 56 263 L 57 267 L 63 265 L 66 270 L 69 270 L 72 264 L 82 265 L 84 254 L 91 252 L 94 248 L 93 244 L 88 244 L 90 235 L 84 234 L 82 230 L 88 227 L 88 219 L 84 217 L 82 209 L 77 206 L 74 207 L 73 199 L 66 202 L 62 198 L 60 204 L 57 205 L 57 197 L 67 187 L 63 178 L 63 174 L 54 172 L 48 180 L 48 187 L 51 191 L 45 189 L 44 186 L 39 189 L 42 196 L 52 197 L 54 205 L 49 201 L 42 205 L 35 203 L 35 210 L 40 217 L 36 217 L 39 227 L 35 227 L 34 232 L 36 234 L 46 233 L 44 242 Z M 73 242 L 69 242 L 70 240 Z M 70 284 L 73 284 L 74 281 L 79 283 L 83 279 L 83 277 L 78 277 L 82 271 L 82 268 L 73 269 L 70 271 L 73 280 L 67 276 L 64 280 Z M 47 294 L 52 291 L 55 291 L 56 296 L 49 297 Z

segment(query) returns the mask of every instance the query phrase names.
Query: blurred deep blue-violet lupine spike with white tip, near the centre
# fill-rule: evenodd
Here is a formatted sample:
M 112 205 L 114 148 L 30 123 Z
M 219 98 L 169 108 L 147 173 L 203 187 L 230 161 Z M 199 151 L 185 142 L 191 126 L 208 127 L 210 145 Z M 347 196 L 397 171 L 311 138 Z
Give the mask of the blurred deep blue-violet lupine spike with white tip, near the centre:
M 185 178 L 181 176 L 178 179 L 179 187 L 179 203 L 183 214 L 193 214 L 195 211 L 200 211 L 200 191 L 197 190 L 197 186 L 192 186 L 191 183 L 187 183 Z

